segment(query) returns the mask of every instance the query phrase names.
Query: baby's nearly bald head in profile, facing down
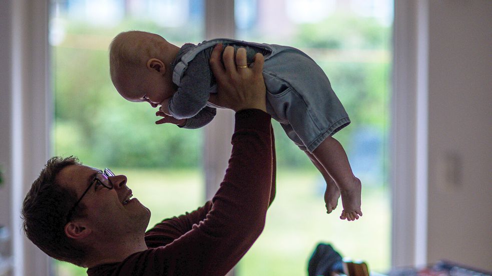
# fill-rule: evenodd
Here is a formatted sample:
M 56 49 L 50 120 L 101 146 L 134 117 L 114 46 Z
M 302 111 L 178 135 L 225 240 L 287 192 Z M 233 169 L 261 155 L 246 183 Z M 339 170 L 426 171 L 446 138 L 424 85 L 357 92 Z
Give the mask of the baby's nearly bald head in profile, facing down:
M 110 73 L 116 90 L 132 102 L 157 107 L 175 92 L 169 65 L 179 47 L 144 31 L 118 34 L 110 45 Z

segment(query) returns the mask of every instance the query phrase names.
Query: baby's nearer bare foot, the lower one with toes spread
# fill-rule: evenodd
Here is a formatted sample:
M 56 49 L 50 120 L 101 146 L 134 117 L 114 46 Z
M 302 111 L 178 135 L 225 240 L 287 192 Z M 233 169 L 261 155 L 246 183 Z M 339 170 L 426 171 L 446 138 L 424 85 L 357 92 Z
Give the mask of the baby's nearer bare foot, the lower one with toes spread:
M 359 216 L 362 216 L 362 211 L 360 210 L 360 180 L 354 177 L 352 182 L 343 183 L 340 186 L 343 205 L 340 219 L 346 219 L 347 221 L 358 220 Z

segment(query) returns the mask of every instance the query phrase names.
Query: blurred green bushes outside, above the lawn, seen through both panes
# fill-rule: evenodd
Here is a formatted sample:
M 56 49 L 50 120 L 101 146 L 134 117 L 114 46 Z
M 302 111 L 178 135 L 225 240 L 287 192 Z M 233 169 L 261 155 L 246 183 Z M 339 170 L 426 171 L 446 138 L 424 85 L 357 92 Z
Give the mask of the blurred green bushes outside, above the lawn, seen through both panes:
M 343 24 L 350 24 L 351 33 L 342 32 L 347 28 L 336 27 Z M 183 43 L 198 42 L 199 30 L 181 33 L 152 21 L 131 19 L 107 29 L 78 21 L 67 21 L 65 25 L 64 42 L 53 47 L 55 152 L 77 155 L 93 166 L 198 166 L 202 161 L 202 130 L 155 125 L 155 109 L 147 103 L 131 103 L 119 96 L 109 77 L 107 45 L 125 29 L 145 29 Z M 87 45 L 82 38 L 92 33 L 98 33 L 100 38 L 94 39 L 96 45 L 94 42 Z M 373 18 L 335 14 L 321 23 L 300 25 L 292 36 L 293 46 L 315 56 L 349 113 L 351 125 L 335 136 L 349 155 L 352 147 L 364 143 L 357 139 L 360 136 L 357 133 L 370 132 L 378 148 L 382 148 L 386 139 L 388 118 L 381 112 L 388 104 L 389 35 L 388 27 Z M 101 45 L 97 45 L 98 41 Z M 337 61 L 340 49 L 355 55 L 354 59 L 358 58 L 356 55 L 367 54 L 364 57 L 367 62 Z M 351 49 L 357 51 L 350 52 Z M 292 142 L 278 124 L 275 129 L 279 166 L 310 168 L 312 165 L 302 153 L 291 150 Z

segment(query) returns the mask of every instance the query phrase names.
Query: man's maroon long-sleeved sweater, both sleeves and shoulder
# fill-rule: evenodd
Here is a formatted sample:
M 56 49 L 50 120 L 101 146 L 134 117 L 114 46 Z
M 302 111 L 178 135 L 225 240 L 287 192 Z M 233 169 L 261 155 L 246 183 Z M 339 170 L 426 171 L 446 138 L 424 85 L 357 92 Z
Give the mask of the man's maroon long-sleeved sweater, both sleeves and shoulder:
M 145 234 L 148 250 L 89 276 L 221 276 L 256 241 L 275 196 L 275 147 L 270 115 L 236 113 L 232 154 L 224 181 L 203 207 L 167 219 Z

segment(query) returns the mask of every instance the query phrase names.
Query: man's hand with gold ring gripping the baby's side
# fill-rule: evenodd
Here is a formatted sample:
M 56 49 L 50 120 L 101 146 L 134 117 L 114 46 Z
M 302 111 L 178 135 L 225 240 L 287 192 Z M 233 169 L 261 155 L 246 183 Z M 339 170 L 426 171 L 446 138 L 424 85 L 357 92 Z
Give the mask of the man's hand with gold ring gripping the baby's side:
M 248 67 L 246 49 L 240 48 L 234 61 L 234 47 L 224 50 L 224 66 L 220 62 L 222 44 L 217 44 L 210 57 L 210 67 L 217 80 L 217 94 L 209 101 L 234 111 L 256 108 L 266 112 L 266 88 L 263 80 L 264 57 L 257 53 L 255 62 Z

